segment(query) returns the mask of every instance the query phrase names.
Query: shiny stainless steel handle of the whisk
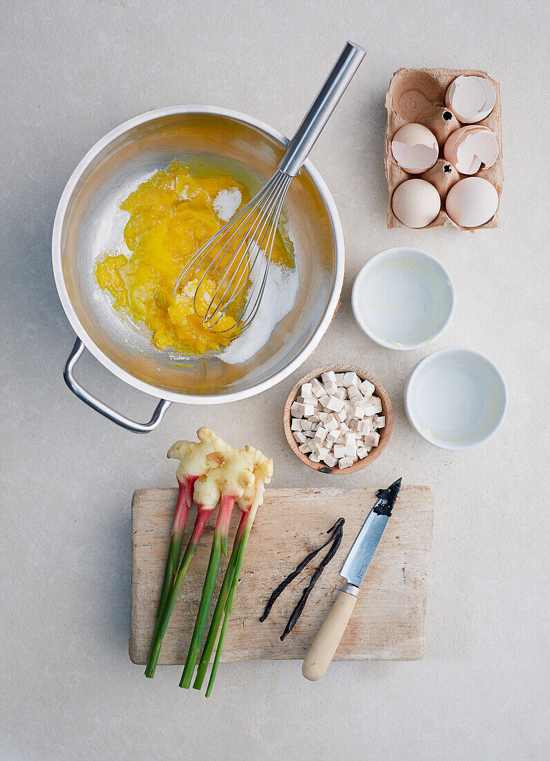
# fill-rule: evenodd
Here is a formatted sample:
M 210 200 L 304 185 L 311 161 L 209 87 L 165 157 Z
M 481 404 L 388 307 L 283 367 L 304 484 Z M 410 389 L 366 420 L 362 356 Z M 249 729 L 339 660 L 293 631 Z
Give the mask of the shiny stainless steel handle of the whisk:
M 365 57 L 365 50 L 359 45 L 347 42 L 340 58 L 334 64 L 332 71 L 324 82 L 321 91 L 315 98 L 311 108 L 306 113 L 296 134 L 286 146 L 277 166 L 285 174 L 296 177 L 315 141 L 321 135 L 321 130 L 327 123 L 330 114 L 337 107 L 359 64 Z

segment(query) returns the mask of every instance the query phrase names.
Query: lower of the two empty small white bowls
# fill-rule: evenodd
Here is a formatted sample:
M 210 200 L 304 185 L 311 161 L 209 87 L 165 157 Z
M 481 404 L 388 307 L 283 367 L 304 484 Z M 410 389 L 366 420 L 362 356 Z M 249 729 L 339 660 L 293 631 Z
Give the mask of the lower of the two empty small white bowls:
M 419 361 L 405 388 L 412 428 L 440 449 L 460 451 L 483 444 L 506 414 L 501 371 L 472 349 L 440 349 Z

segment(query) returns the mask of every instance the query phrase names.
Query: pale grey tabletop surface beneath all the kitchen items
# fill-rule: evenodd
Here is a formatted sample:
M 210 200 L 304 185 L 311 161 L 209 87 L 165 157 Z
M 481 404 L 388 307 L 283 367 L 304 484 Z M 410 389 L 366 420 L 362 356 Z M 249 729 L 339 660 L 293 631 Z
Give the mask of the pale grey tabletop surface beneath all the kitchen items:
M 15 2 L 2 5 L 2 759 L 542 759 L 548 753 L 548 107 L 544 4 L 469 2 Z M 109 129 L 175 103 L 213 103 L 291 134 L 346 37 L 368 49 L 311 158 L 346 236 L 343 305 L 302 370 L 352 362 L 394 402 L 384 456 L 352 477 L 306 470 L 280 412 L 298 371 L 261 397 L 172 406 L 146 437 L 68 391 L 74 340 L 50 265 L 55 207 Z M 396 68 L 482 68 L 501 82 L 500 231 L 386 230 L 384 93 Z M 546 162 L 547 163 L 547 162 Z M 548 167 L 547 167 L 548 169 Z M 498 435 L 448 453 L 406 421 L 403 386 L 427 350 L 381 349 L 349 307 L 374 253 L 415 245 L 457 288 L 435 344 L 488 354 L 507 379 Z M 141 419 L 150 397 L 89 355 L 79 377 Z M 311 684 L 298 662 L 220 667 L 205 702 L 128 660 L 130 500 L 171 486 L 165 453 L 210 425 L 275 458 L 274 486 L 381 486 L 435 495 L 426 655 L 333 664 Z

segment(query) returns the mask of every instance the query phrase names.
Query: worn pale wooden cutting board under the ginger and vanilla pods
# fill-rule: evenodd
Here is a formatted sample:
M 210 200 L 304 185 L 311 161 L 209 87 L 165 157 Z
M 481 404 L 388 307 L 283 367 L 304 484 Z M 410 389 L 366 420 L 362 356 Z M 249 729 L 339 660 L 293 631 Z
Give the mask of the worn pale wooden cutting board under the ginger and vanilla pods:
M 343 560 L 376 501 L 375 489 L 267 489 L 258 511 L 235 596 L 222 661 L 303 658 L 345 581 Z M 138 489 L 132 500 L 130 658 L 145 664 L 153 635 L 177 489 Z M 215 516 L 215 514 L 214 514 Z M 259 617 L 271 592 L 346 518 L 343 542 L 311 592 L 292 632 L 280 642 L 286 621 L 327 549 L 321 550 L 273 605 Z M 194 522 L 190 511 L 184 546 Z M 240 511 L 235 508 L 229 552 Z M 335 655 L 411 661 L 424 654 L 424 617 L 433 505 L 427 486 L 404 486 L 363 581 L 356 609 Z M 211 524 L 214 521 L 210 521 Z M 213 525 L 207 527 L 163 642 L 160 664 L 183 664 L 201 599 Z M 223 560 L 222 572 L 226 561 Z M 216 594 L 223 573 L 220 573 Z M 214 598 L 216 599 L 216 598 Z M 213 611 L 213 606 L 212 610 Z

